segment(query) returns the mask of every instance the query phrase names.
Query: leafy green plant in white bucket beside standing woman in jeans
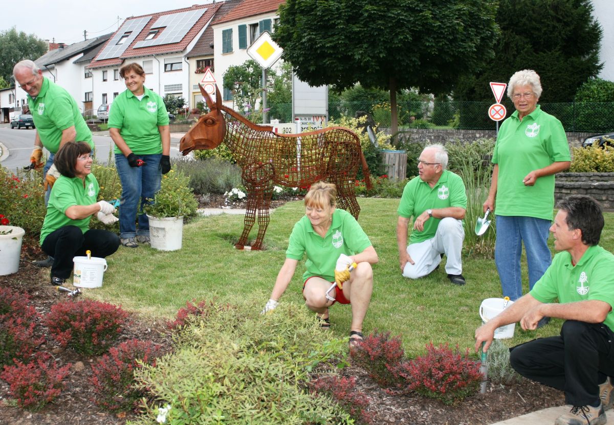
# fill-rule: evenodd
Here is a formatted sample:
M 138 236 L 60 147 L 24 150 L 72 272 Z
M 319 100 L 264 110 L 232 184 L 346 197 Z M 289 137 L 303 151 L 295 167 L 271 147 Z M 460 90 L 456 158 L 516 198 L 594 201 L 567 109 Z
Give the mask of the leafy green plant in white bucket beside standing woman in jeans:
M 190 177 L 174 168 L 162 176 L 160 190 L 144 207 L 149 217 L 152 248 L 161 251 L 181 249 L 184 217 L 196 214 L 198 202 L 189 187 Z

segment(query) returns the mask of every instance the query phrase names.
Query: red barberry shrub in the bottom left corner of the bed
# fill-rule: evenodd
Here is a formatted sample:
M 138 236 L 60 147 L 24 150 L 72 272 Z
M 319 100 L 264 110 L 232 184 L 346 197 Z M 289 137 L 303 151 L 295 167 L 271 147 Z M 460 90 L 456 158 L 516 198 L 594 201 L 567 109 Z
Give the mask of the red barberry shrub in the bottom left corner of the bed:
M 41 352 L 27 364 L 15 361 L 14 366 L 4 366 L 0 378 L 9 383 L 19 407 L 36 411 L 60 395 L 70 368 L 71 364 L 58 367 L 49 353 Z

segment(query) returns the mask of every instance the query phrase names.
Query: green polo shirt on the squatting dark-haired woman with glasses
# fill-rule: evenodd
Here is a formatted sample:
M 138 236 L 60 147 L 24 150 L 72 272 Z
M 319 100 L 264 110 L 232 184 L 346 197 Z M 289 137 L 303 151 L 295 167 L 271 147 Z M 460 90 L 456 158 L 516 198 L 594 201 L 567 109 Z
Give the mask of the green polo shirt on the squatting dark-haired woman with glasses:
M 79 177 L 60 176 L 53 184 L 49 204 L 47 204 L 47 214 L 41 229 L 41 244 L 49 233 L 58 228 L 74 225 L 81 229 L 83 233 L 90 228 L 90 218 L 72 220 L 66 216 L 66 209 L 73 205 L 91 205 L 96 203 L 98 197 L 98 181 L 94 174 L 85 176 L 85 187 Z

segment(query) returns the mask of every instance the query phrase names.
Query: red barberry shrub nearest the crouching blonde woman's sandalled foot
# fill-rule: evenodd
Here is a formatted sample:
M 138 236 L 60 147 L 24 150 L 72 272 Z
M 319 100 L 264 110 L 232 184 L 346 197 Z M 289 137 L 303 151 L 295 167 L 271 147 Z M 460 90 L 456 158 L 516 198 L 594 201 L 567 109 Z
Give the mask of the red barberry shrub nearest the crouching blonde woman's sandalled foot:
M 403 361 L 405 352 L 400 337 L 375 330 L 349 351 L 352 364 L 362 367 L 380 386 L 394 386 L 400 380 L 392 371 Z

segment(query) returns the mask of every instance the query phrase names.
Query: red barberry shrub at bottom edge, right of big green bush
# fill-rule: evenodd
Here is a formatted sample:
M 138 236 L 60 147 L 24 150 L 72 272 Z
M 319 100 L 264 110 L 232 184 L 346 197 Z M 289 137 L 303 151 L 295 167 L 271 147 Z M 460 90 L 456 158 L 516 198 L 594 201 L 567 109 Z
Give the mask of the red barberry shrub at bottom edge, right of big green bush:
M 375 414 L 367 411 L 370 399 L 364 392 L 356 389 L 354 376 L 349 378 L 336 375 L 321 376 L 310 383 L 310 386 L 316 394 L 324 393 L 332 396 L 343 410 L 356 419 L 357 423 L 373 423 Z

